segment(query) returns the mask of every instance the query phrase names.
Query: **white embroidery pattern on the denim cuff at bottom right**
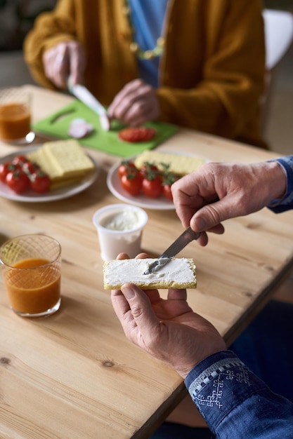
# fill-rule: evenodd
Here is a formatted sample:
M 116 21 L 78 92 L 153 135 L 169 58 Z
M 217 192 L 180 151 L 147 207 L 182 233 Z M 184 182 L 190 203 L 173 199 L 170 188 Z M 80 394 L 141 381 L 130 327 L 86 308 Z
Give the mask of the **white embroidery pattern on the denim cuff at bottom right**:
M 239 367 L 239 372 L 229 370 L 231 367 Z M 223 396 L 223 387 L 225 380 L 236 379 L 240 383 L 245 383 L 250 386 L 248 371 L 243 367 L 244 363 L 237 358 L 225 358 L 207 367 L 189 386 L 189 393 L 193 401 L 197 405 L 207 405 L 208 407 L 223 407 L 221 398 Z M 213 381 L 214 390 L 211 395 L 200 395 L 202 390 Z

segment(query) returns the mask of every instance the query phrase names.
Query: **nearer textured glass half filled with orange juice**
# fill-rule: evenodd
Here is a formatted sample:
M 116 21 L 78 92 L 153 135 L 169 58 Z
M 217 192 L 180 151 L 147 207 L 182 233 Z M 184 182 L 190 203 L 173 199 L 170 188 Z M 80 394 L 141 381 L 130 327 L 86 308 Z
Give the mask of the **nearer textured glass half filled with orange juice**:
M 0 248 L 8 300 L 22 317 L 44 317 L 60 308 L 61 247 L 51 236 L 22 235 Z

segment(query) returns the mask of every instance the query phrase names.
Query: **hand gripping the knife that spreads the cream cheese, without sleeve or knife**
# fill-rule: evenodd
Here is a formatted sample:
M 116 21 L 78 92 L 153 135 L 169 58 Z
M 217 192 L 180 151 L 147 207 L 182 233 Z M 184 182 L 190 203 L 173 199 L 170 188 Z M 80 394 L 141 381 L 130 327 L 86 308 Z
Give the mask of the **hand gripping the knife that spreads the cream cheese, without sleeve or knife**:
M 223 233 L 225 219 L 256 212 L 285 193 L 286 177 L 276 162 L 205 163 L 172 184 L 176 213 L 183 227 Z

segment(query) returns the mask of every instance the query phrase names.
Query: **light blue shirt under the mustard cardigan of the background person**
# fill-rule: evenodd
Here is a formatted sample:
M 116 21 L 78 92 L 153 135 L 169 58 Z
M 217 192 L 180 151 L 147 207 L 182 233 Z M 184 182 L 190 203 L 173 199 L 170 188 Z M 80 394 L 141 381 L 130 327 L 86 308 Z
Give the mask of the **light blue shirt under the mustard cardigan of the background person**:
M 134 25 L 134 40 L 142 50 L 152 50 L 162 36 L 168 0 L 129 0 L 131 21 Z M 137 60 L 141 79 L 157 88 L 159 57 L 152 60 Z

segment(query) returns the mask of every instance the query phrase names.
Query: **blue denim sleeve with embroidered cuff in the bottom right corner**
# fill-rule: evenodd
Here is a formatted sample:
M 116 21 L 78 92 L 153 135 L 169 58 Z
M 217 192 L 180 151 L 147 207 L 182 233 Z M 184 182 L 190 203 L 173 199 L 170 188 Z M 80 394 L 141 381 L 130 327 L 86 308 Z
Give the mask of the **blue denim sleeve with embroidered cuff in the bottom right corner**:
M 293 404 L 273 393 L 232 351 L 200 362 L 185 386 L 216 438 L 293 438 Z

